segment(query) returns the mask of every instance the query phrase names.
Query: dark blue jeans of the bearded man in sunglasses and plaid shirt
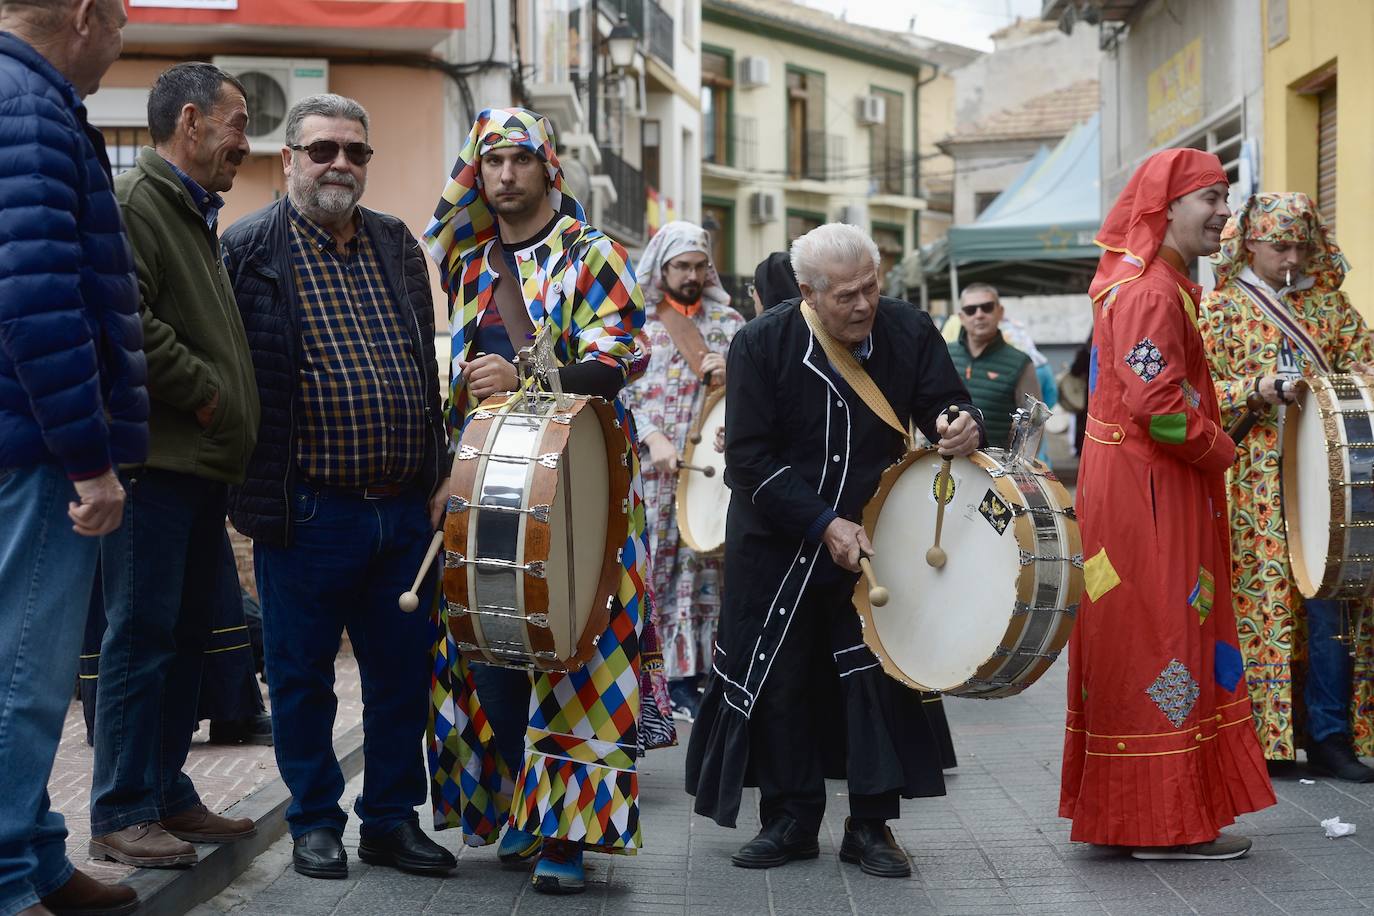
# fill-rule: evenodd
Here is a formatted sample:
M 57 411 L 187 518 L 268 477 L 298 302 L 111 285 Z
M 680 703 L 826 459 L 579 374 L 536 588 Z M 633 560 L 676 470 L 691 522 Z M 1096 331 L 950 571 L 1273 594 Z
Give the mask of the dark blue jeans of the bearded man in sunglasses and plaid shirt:
M 276 766 L 291 790 L 291 836 L 342 831 L 344 773 L 334 755 L 334 658 L 348 628 L 363 680 L 363 794 L 353 810 L 364 836 L 418 821 L 426 780 L 433 567 L 420 610 L 397 607 L 434 529 L 426 494 L 381 500 L 297 486 L 291 545 L 253 549 L 262 600 L 262 647 L 272 699 Z

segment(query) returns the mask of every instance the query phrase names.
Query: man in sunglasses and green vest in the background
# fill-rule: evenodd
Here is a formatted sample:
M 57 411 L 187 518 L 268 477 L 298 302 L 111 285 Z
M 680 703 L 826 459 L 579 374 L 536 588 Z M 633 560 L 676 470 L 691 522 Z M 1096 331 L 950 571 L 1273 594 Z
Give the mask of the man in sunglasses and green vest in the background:
M 988 445 L 1006 448 L 1011 434 L 1011 413 L 1025 396 L 1040 397 L 1030 357 L 1007 343 L 998 290 L 987 283 L 970 283 L 959 297 L 959 339 L 949 343 L 949 357 L 963 376 L 974 405 L 982 411 Z

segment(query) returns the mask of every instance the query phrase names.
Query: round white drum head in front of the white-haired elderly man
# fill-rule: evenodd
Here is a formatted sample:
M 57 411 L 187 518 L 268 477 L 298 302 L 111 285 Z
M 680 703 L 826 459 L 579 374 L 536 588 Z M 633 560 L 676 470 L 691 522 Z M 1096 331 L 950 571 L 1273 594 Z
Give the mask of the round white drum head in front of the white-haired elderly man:
M 1017 602 L 1020 551 L 1010 512 L 985 504 L 992 478 L 966 457 L 951 466 L 955 492 L 945 505 L 943 569 L 926 563 L 934 541 L 936 453 L 914 460 L 893 483 L 872 530 L 872 569 L 892 592 L 872 608 L 877 636 L 892 662 L 922 688 L 959 687 L 992 658 Z M 998 526 L 1002 526 L 999 531 Z

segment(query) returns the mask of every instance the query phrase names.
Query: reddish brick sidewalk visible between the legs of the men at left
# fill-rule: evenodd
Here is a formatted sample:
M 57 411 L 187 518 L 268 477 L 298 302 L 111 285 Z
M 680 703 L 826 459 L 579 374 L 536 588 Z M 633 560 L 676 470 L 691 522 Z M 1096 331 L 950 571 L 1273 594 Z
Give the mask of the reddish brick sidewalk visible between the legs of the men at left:
M 338 737 L 363 721 L 361 687 L 357 680 L 357 662 L 348 643 L 341 650 L 337 665 L 335 689 L 339 696 L 338 718 L 334 722 L 334 736 Z M 262 684 L 267 698 L 267 685 Z M 191 743 L 191 754 L 185 762 L 187 775 L 195 781 L 201 801 L 212 812 L 223 812 L 256 788 L 276 779 L 276 758 L 271 747 L 257 744 L 210 744 L 207 742 L 209 722 L 201 722 L 201 731 Z M 48 795 L 52 808 L 62 812 L 67 821 L 67 856 L 91 875 L 107 880 L 118 880 L 132 868 L 110 861 L 87 858 L 87 842 L 91 839 L 91 770 L 95 765 L 95 750 L 85 742 L 85 720 L 81 703 L 73 702 L 62 729 L 62 744 L 48 779 Z

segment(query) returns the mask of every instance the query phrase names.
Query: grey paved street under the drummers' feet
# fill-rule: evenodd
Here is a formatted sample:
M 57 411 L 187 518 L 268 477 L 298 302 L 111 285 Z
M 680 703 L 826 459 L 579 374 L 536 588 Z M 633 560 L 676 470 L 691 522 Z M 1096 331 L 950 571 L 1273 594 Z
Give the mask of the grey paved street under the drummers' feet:
M 345 839 L 350 878 L 311 880 L 290 868 L 290 842 L 261 856 L 195 913 L 345 916 L 371 913 L 1369 913 L 1374 911 L 1374 786 L 1300 773 L 1276 784 L 1279 803 L 1238 829 L 1254 850 L 1235 862 L 1136 862 L 1070 843 L 1058 799 L 1061 662 L 1010 700 L 947 703 L 959 753 L 949 794 L 905 802 L 897 836 L 915 873 L 883 880 L 842 865 L 842 784 L 820 838 L 820 858 L 768 872 L 730 865 L 757 823 L 716 827 L 691 813 L 682 791 L 683 750 L 655 751 L 642 766 L 644 850 L 588 857 L 581 897 L 547 898 L 526 873 L 503 871 L 493 849 L 462 849 L 453 878 L 436 880 L 357 861 L 356 824 Z M 348 795 L 359 784 L 349 786 Z M 1355 836 L 1326 839 L 1319 821 L 1338 814 Z M 458 851 L 452 832 L 440 840 Z

